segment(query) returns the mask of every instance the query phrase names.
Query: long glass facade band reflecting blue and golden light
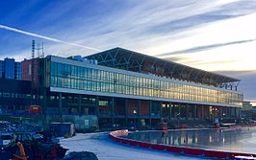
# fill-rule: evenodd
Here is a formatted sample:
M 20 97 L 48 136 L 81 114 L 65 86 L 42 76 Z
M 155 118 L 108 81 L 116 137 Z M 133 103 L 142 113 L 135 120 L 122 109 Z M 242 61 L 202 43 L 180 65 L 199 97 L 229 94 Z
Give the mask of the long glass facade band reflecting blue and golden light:
M 243 104 L 243 94 L 206 85 L 193 85 L 183 81 L 157 79 L 149 75 L 111 71 L 61 62 L 50 62 L 50 86 L 67 89 L 106 92 L 133 96 L 164 98 L 175 101 L 200 103 Z M 96 66 L 96 65 L 95 65 Z

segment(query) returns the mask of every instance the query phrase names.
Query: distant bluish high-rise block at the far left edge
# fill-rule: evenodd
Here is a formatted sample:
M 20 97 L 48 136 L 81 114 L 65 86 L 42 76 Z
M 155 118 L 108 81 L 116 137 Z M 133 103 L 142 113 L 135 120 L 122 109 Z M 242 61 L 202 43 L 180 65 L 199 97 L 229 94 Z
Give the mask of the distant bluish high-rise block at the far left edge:
M 21 63 L 9 57 L 0 60 L 0 78 L 21 80 Z

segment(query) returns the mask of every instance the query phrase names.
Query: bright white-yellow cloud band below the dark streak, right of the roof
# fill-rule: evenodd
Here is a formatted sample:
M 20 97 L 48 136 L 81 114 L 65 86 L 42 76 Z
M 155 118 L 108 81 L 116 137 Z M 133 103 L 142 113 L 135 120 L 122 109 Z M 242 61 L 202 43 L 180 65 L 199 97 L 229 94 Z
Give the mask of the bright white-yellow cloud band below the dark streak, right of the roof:
M 207 71 L 256 70 L 255 57 L 253 57 L 255 46 L 256 42 L 252 41 L 244 44 L 218 47 L 209 51 L 170 57 L 180 59 L 177 62 Z

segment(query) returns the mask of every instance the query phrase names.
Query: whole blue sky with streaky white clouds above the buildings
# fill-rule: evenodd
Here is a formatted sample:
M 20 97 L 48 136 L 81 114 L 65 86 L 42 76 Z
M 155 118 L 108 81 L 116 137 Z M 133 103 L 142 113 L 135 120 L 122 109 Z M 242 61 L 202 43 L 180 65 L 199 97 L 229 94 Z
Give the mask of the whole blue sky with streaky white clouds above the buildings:
M 87 56 L 115 47 L 242 79 L 256 103 L 255 0 L 0 1 L 0 59 Z

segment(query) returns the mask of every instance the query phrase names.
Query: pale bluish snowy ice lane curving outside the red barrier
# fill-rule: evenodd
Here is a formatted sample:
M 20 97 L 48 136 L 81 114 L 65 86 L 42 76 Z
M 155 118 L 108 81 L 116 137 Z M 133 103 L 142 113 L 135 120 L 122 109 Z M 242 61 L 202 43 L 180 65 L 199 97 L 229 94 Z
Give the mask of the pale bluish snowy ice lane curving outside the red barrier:
M 187 156 L 167 151 L 141 149 L 113 142 L 108 133 L 78 133 L 76 136 L 61 139 L 60 143 L 67 151 L 91 151 L 99 160 L 195 160 L 209 159 L 204 157 Z

